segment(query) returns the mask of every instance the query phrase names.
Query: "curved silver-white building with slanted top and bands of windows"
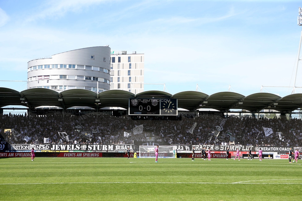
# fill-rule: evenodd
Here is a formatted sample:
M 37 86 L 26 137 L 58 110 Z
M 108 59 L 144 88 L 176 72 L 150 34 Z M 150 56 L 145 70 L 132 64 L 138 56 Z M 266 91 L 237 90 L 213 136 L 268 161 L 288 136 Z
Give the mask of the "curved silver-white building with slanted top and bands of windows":
M 110 47 L 88 47 L 28 62 L 28 89 L 110 89 Z

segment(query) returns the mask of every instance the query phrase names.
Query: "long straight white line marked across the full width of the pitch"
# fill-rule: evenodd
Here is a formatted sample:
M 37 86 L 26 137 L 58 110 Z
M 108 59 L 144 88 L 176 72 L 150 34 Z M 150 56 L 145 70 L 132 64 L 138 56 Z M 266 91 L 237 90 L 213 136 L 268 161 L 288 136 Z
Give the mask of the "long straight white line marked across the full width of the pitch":
M 274 180 L 274 179 L 272 179 Z M 279 180 L 279 179 L 276 179 Z M 291 180 L 291 179 L 284 179 Z M 294 179 L 292 179 L 294 180 Z M 270 180 L 258 180 L 270 181 Z M 248 182 L 248 181 L 246 181 Z M 224 182 L 56 182 L 56 183 L 6 183 L 0 185 L 28 185 L 28 184 L 301 184 L 301 183 L 224 183 Z

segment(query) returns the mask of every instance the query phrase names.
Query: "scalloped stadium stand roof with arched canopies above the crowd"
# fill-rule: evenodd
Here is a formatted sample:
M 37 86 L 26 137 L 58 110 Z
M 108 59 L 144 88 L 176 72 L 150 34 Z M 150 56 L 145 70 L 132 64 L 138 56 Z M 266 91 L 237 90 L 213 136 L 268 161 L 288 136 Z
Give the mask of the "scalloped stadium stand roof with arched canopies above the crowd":
M 177 98 L 178 108 L 195 111 L 196 109 L 216 109 L 227 112 L 230 109 L 244 109 L 252 113 L 263 109 L 274 109 L 280 113 L 290 113 L 302 107 L 302 94 L 280 97 L 271 93 L 255 93 L 244 96 L 235 92 L 218 92 L 207 95 L 202 92 L 185 91 L 174 95 L 162 91 L 146 91 L 138 94 L 123 90 L 107 90 L 96 93 L 86 89 L 70 89 L 56 92 L 47 88 L 31 88 L 22 92 L 10 88 L 0 88 L 0 107 L 23 105 L 30 109 L 39 106 L 60 108 L 121 107 L 128 109 L 129 98 Z

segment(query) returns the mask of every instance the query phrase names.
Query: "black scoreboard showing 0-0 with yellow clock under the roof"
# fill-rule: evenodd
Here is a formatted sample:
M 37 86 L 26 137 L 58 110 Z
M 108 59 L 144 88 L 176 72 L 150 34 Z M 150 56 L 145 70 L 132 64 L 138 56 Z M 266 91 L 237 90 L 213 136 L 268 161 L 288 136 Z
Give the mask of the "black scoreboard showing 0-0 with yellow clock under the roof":
M 129 115 L 177 115 L 177 99 L 130 98 Z

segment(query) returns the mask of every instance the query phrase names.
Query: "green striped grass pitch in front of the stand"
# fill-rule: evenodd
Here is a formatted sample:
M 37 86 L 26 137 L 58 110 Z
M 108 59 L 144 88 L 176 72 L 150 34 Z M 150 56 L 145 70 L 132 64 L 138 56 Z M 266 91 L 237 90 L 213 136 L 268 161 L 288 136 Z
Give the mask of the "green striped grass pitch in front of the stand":
M 302 161 L 2 158 L 0 200 L 301 200 Z

